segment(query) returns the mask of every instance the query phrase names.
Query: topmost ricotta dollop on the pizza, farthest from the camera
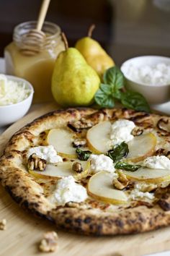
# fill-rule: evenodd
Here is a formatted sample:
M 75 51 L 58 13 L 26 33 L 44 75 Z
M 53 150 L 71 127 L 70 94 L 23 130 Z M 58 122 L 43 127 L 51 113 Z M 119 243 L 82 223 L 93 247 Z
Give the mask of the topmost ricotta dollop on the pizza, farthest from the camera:
M 117 145 L 122 142 L 129 142 L 133 140 L 133 135 L 131 135 L 132 130 L 135 128 L 133 121 L 126 119 L 120 119 L 112 124 L 110 131 L 110 140 L 112 140 L 112 145 Z

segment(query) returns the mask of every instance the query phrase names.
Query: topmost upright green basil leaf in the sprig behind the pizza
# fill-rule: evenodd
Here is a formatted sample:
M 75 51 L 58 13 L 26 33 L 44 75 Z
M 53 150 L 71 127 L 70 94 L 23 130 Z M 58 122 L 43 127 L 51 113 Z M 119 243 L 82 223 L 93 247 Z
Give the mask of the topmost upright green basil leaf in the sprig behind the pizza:
M 112 85 L 116 89 L 120 89 L 124 86 L 124 75 L 118 67 L 110 67 L 104 72 L 103 76 L 104 84 Z

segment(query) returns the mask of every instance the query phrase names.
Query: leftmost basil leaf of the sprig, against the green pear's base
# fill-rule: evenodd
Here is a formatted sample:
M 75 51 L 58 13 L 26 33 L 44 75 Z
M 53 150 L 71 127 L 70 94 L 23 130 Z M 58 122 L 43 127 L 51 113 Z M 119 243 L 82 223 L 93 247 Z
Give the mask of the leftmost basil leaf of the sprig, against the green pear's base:
M 102 108 L 113 108 L 115 106 L 112 95 L 107 95 L 101 89 L 97 90 L 97 93 L 94 95 L 94 101 Z

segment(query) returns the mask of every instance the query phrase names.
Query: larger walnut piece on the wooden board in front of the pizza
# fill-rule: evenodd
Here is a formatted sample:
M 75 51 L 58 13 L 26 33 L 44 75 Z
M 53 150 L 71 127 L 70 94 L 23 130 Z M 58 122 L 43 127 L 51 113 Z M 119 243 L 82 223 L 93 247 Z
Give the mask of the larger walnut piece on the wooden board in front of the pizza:
M 48 231 L 40 242 L 41 252 L 55 252 L 58 249 L 58 234 L 55 231 Z

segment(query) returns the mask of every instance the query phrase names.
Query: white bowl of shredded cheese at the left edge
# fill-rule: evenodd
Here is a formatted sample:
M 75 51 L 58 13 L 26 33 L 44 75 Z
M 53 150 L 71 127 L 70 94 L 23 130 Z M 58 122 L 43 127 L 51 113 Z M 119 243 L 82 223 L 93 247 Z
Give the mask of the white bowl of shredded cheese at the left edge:
M 27 113 L 33 93 L 30 82 L 0 74 L 0 127 L 14 123 Z

